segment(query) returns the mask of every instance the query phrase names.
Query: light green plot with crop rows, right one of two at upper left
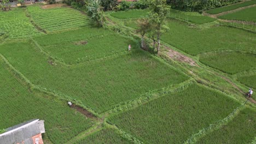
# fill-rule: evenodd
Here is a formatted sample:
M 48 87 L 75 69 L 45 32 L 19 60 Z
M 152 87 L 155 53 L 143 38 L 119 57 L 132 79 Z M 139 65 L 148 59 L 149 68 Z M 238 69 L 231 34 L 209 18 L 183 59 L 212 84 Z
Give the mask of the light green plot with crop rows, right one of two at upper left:
M 71 8 L 42 9 L 33 5 L 27 11 L 39 27 L 50 32 L 87 26 L 89 22 L 87 16 Z

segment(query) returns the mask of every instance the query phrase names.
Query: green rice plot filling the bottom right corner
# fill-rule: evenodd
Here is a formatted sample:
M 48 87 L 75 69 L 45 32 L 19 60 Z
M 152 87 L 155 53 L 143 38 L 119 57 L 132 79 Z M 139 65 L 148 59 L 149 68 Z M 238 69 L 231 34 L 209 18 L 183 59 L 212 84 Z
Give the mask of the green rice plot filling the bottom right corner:
M 201 138 L 197 143 L 251 143 L 256 135 L 256 111 L 245 109 L 221 129 Z

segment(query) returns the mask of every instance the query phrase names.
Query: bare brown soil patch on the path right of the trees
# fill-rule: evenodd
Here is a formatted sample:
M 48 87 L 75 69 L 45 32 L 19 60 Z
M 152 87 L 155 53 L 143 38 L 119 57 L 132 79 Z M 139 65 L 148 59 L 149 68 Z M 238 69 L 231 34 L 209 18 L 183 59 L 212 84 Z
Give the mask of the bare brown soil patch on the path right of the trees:
M 168 50 L 167 55 L 170 58 L 172 58 L 176 61 L 179 61 L 179 62 L 188 63 L 191 66 L 199 67 L 199 65 L 197 65 L 196 62 L 192 58 L 184 56 L 184 55 L 182 55 L 182 53 L 179 53 L 177 51 L 170 49 L 170 47 L 165 46 L 165 49 Z

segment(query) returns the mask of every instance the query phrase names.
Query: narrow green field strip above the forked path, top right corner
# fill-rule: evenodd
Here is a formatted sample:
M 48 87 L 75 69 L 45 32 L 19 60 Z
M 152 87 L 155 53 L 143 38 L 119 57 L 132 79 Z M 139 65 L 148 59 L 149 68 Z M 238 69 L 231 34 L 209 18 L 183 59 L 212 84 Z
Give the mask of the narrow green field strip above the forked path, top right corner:
M 246 2 L 243 2 L 243 3 L 232 4 L 232 5 L 228 5 L 228 6 L 225 6 L 225 7 L 216 8 L 216 9 L 210 9 L 210 10 L 207 10 L 206 13 L 208 13 L 208 14 L 219 14 L 219 13 L 222 13 L 224 11 L 234 10 L 234 9 L 238 9 L 238 8 L 241 8 L 241 7 L 246 7 L 248 5 L 253 5 L 253 4 L 256 4 L 255 0 L 246 1 Z

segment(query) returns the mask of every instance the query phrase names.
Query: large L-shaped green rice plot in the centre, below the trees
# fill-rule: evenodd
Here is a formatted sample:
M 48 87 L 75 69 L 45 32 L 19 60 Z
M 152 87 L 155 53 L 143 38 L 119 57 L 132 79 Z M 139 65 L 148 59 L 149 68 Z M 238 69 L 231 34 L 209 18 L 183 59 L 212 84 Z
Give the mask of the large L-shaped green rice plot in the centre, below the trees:
M 32 83 L 81 100 L 98 113 L 188 79 L 137 47 L 124 56 L 73 67 L 51 62 L 31 41 L 10 41 L 0 47 L 8 61 Z

